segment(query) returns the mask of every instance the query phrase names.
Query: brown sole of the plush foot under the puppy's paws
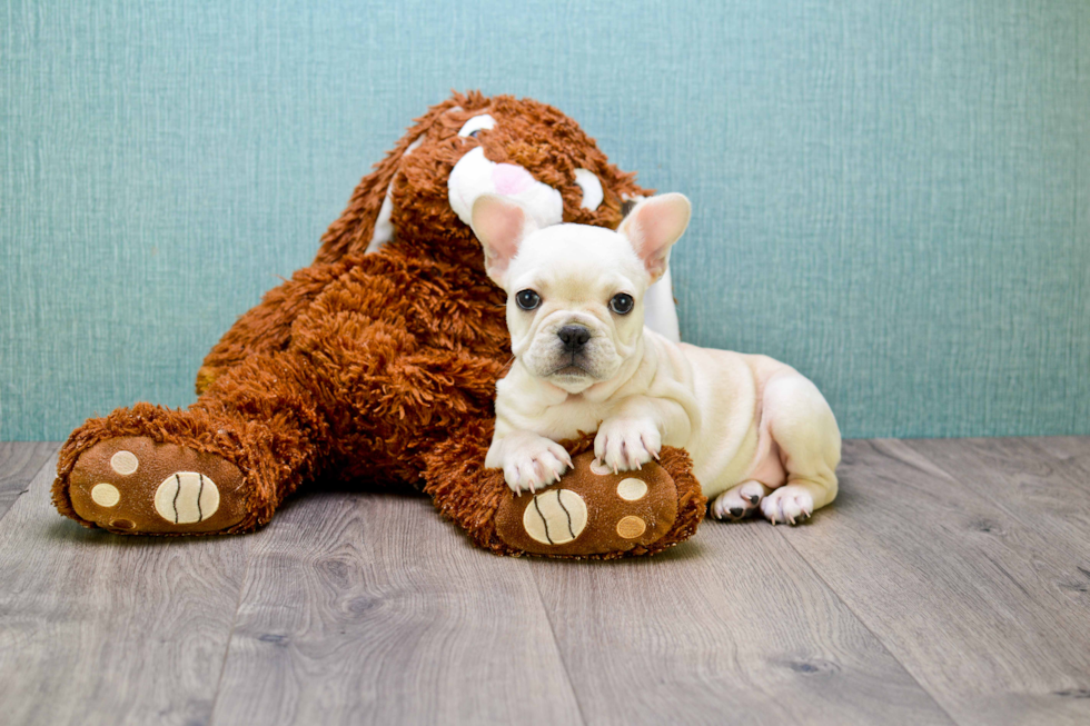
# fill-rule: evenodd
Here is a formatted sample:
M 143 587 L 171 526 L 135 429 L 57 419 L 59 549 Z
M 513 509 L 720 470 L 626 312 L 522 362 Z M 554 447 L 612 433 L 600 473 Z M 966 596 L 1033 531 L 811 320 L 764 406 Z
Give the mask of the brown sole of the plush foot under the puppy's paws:
M 622 556 L 663 539 L 677 518 L 677 503 L 674 479 L 654 461 L 614 474 L 587 451 L 573 458 L 558 484 L 505 497 L 496 536 L 535 555 Z

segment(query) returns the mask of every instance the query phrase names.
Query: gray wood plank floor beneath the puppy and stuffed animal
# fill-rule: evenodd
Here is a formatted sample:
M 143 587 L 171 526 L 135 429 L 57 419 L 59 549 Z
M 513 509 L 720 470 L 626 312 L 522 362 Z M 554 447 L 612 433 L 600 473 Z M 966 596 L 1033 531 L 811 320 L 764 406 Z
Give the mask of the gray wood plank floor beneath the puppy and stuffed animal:
M 427 499 L 85 530 L 0 444 L 3 724 L 1090 724 L 1090 438 L 845 442 L 802 527 L 474 549 Z

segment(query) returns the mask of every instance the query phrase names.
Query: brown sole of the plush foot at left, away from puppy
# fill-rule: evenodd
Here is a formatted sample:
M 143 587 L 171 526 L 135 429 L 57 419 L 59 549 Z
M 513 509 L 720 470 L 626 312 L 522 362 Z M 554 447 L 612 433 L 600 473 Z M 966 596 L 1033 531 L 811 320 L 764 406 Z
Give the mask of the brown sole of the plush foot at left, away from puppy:
M 247 511 L 234 464 L 147 437 L 96 444 L 79 456 L 68 485 L 76 514 L 115 534 L 224 533 Z

